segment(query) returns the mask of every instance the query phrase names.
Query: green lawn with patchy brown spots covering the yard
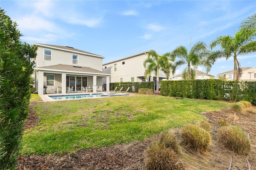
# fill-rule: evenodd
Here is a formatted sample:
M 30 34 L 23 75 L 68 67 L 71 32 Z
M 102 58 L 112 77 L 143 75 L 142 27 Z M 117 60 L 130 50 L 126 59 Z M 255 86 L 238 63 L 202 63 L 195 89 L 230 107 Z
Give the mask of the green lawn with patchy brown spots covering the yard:
M 22 154 L 73 152 L 117 143 L 142 141 L 169 128 L 204 119 L 200 112 L 229 103 L 130 95 L 38 103 L 40 125 L 25 130 Z

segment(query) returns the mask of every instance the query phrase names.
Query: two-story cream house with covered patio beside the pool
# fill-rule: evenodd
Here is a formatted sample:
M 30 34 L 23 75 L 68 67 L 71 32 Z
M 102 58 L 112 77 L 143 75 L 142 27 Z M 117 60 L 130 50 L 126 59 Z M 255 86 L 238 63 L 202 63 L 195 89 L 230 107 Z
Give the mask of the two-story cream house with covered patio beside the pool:
M 90 86 L 93 93 L 102 91 L 102 78 L 106 79 L 106 90 L 109 90 L 110 75 L 102 71 L 104 57 L 81 51 L 73 47 L 35 43 L 38 46 L 35 60 L 35 79 L 37 91 L 54 93 L 53 89 L 61 87 L 65 94 L 68 87 L 73 91 L 82 91 Z M 47 87 L 45 89 L 45 87 Z

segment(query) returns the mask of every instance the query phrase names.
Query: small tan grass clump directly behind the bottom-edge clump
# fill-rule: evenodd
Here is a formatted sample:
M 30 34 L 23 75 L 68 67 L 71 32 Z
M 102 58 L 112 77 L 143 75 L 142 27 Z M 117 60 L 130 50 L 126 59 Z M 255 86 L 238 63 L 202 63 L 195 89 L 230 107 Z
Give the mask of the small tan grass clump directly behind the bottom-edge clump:
M 166 148 L 174 150 L 177 154 L 180 153 L 180 148 L 174 134 L 168 130 L 160 133 L 159 143 L 163 144 Z

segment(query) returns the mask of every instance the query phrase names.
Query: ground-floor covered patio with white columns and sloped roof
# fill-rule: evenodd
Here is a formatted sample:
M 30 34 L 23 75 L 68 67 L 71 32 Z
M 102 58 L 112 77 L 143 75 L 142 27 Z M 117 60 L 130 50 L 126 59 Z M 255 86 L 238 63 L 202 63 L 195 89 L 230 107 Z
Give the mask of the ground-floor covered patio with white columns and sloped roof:
M 109 91 L 110 74 L 90 67 L 58 64 L 38 67 L 35 71 L 39 95 Z M 102 77 L 106 77 L 106 89 L 103 88 Z

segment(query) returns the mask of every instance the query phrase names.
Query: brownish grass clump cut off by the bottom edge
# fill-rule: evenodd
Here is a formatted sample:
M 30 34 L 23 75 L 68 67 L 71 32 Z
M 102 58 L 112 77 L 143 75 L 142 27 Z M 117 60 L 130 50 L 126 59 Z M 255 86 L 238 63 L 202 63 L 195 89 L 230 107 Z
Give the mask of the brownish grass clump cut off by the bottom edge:
M 178 154 L 154 141 L 146 150 L 147 170 L 183 170 L 183 164 Z

